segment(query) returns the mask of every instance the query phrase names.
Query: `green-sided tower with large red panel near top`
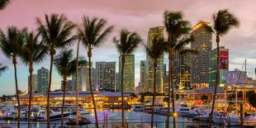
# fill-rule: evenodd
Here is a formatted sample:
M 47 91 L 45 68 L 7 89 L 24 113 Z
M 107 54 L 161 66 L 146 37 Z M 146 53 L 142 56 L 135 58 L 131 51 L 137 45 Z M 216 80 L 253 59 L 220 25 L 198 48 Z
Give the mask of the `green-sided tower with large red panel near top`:
M 210 87 L 214 87 L 216 84 L 216 69 L 217 69 L 217 48 L 211 50 L 211 68 L 210 68 Z M 219 57 L 219 71 L 220 71 L 220 83 L 218 86 L 224 86 L 226 83 L 226 77 L 229 72 L 229 50 L 224 46 L 220 46 Z

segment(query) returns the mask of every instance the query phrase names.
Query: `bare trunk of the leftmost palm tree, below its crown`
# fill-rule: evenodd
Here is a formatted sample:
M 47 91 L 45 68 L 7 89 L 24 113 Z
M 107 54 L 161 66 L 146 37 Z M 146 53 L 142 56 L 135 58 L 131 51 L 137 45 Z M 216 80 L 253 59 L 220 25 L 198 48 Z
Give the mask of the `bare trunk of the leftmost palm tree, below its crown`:
M 20 117 L 21 117 L 21 102 L 19 97 L 19 88 L 18 88 L 18 80 L 17 80 L 17 59 L 13 59 L 13 67 L 14 67 L 14 77 L 15 77 L 15 89 L 16 89 L 16 98 L 18 103 L 18 116 L 17 116 L 17 128 L 20 128 Z

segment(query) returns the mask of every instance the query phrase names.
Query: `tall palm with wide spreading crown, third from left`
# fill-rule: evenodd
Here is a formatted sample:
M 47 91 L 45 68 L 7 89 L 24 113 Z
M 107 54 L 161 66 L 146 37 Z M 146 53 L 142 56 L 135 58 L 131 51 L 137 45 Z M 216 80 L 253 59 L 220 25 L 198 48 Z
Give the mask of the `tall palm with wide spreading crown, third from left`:
M 45 24 L 37 18 L 38 31 L 42 37 L 42 43 L 47 46 L 50 54 L 50 73 L 49 73 L 49 85 L 47 92 L 47 128 L 50 128 L 50 88 L 51 88 L 51 73 L 53 68 L 53 60 L 56 54 L 56 50 L 62 49 L 67 45 L 73 43 L 74 37 L 71 36 L 71 31 L 74 28 L 74 24 L 71 21 L 67 21 L 64 15 L 51 14 L 45 15 Z

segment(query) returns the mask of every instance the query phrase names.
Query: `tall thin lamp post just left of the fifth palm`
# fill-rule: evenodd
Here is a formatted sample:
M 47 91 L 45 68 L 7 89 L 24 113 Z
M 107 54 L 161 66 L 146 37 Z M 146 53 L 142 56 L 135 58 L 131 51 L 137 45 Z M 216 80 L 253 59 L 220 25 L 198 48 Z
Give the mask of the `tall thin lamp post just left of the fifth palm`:
M 76 107 L 77 107 L 77 114 L 76 114 L 76 126 L 78 127 L 79 124 L 79 106 L 78 106 L 78 54 L 79 54 L 79 43 L 80 39 L 78 40 L 78 50 L 77 50 L 77 61 L 76 61 L 76 73 L 75 73 L 75 88 L 76 88 Z

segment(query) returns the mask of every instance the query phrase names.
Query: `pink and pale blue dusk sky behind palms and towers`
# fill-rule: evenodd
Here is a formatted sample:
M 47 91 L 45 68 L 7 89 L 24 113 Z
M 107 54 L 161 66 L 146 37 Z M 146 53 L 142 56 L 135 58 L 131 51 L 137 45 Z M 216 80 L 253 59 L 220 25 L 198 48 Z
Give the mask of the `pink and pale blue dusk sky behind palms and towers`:
M 7 31 L 7 26 L 18 28 L 28 27 L 36 31 L 36 17 L 44 21 L 44 15 L 50 13 L 63 13 L 70 21 L 82 23 L 82 17 L 100 17 L 107 20 L 107 25 L 114 25 L 114 31 L 107 37 L 107 41 L 100 48 L 93 49 L 92 62 L 116 61 L 118 52 L 112 42 L 118 36 L 121 28 L 136 31 L 147 40 L 149 27 L 163 26 L 164 11 L 182 11 L 184 18 L 191 21 L 191 26 L 198 21 L 212 21 L 212 14 L 220 9 L 229 9 L 239 18 L 240 25 L 232 29 L 227 35 L 221 37 L 220 44 L 230 49 L 230 70 L 241 69 L 244 59 L 250 77 L 255 77 L 256 67 L 256 1 L 255 0 L 11 0 L 10 4 L 0 11 L 0 28 Z M 76 31 L 73 31 L 74 34 Z M 215 39 L 213 47 L 215 48 Z M 75 55 L 73 49 L 73 55 Z M 80 55 L 86 55 L 86 50 L 81 48 Z M 140 81 L 140 60 L 145 60 L 145 50 L 142 46 L 135 50 L 135 86 Z M 165 57 L 165 63 L 168 59 Z M 2 55 L 0 63 L 6 64 L 8 69 L 0 76 L 0 95 L 15 92 L 14 69 L 12 61 Z M 41 66 L 50 68 L 50 59 L 45 59 L 43 64 L 36 65 L 34 73 Z M 118 66 L 117 66 L 118 67 Z M 19 87 L 27 90 L 28 68 L 26 65 L 17 64 Z M 116 69 L 118 71 L 118 68 Z M 53 72 L 52 90 L 60 88 L 59 74 Z

